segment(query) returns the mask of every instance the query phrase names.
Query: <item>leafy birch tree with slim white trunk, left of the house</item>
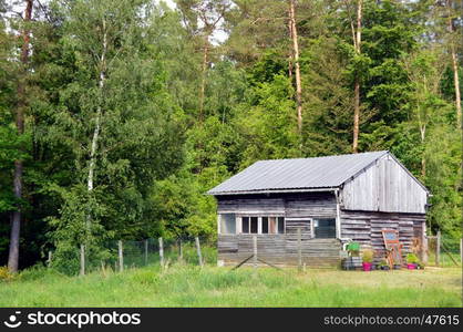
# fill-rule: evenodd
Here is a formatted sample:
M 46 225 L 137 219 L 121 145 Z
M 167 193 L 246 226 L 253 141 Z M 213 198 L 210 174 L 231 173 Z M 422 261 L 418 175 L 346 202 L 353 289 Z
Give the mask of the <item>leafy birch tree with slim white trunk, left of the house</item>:
M 171 144 L 182 135 L 175 133 L 176 122 L 167 121 L 173 105 L 160 56 L 148 51 L 150 6 L 143 0 L 62 2 L 63 52 L 73 60 L 73 73 L 61 90 L 48 141 L 72 152 L 75 178 L 58 189 L 63 206 L 51 220 L 56 243 L 88 243 L 105 231 L 127 231 L 145 212 L 154 179 L 182 160 L 171 157 L 177 154 Z

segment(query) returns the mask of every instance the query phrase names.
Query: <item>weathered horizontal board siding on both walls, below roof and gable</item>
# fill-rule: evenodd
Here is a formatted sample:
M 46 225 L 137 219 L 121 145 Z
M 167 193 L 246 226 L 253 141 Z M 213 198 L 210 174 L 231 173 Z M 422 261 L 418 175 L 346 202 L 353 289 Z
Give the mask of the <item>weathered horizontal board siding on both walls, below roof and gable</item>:
M 332 193 L 237 195 L 218 197 L 218 214 L 285 217 L 285 234 L 257 235 L 258 257 L 274 264 L 297 264 L 297 230 L 301 229 L 302 261 L 307 266 L 333 266 L 340 261 L 341 241 L 313 239 L 312 218 L 336 218 Z M 399 230 L 403 253 L 412 249 L 413 237 L 423 237 L 423 214 L 340 210 L 341 238 L 372 247 L 375 261 L 385 255 L 382 229 Z M 238 263 L 253 255 L 253 235 L 219 235 L 218 259 Z

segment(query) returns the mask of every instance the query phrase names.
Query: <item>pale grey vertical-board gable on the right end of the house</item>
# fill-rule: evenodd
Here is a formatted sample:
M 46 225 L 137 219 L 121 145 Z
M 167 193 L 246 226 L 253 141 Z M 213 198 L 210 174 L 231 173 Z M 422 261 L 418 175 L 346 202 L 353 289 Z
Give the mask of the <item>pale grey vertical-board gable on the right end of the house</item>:
M 391 155 L 347 181 L 340 193 L 348 210 L 424 214 L 426 190 Z

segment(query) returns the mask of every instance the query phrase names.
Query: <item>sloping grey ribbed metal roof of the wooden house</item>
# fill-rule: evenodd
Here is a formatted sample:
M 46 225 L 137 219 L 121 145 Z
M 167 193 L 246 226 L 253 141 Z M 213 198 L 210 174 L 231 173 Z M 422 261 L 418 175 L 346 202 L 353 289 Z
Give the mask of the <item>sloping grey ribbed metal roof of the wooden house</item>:
M 336 188 L 387 153 L 380 151 L 316 158 L 260 160 L 207 194 Z

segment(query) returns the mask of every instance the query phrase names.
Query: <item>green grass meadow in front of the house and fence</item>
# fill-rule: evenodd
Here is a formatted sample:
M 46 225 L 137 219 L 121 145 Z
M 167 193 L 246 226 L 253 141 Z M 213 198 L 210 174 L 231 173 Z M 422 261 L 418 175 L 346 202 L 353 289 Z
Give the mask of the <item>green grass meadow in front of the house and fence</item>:
M 0 281 L 0 307 L 461 307 L 461 269 L 339 271 L 175 264 Z

